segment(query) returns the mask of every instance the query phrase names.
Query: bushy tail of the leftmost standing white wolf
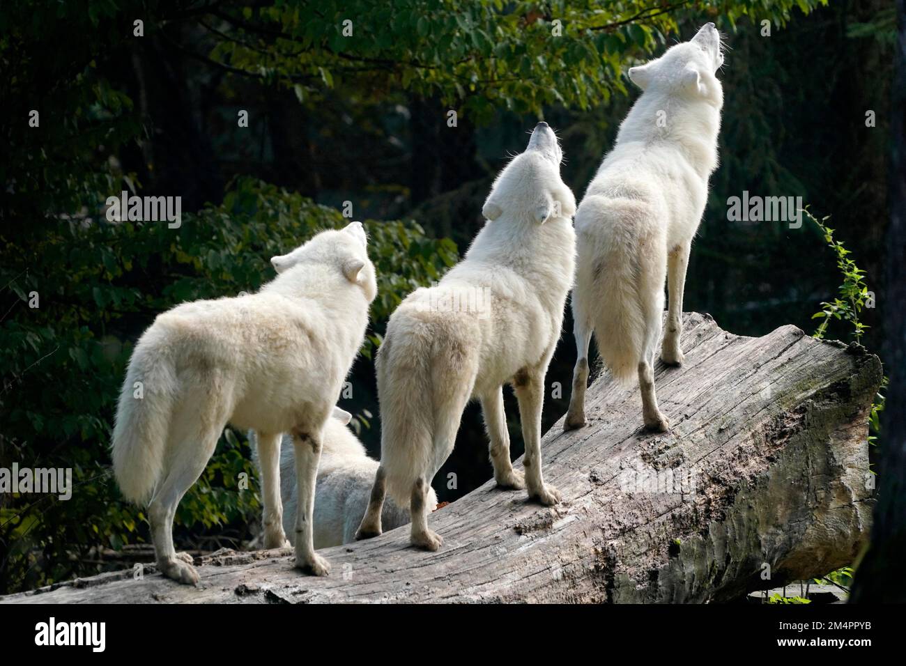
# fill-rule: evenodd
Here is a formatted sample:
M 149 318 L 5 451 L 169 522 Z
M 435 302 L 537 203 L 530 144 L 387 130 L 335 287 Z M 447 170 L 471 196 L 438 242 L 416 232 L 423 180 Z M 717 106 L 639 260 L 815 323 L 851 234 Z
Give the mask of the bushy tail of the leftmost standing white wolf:
M 149 347 L 139 341 L 132 353 L 113 428 L 113 474 L 123 496 L 136 504 L 150 500 L 163 475 L 177 393 L 166 355 Z

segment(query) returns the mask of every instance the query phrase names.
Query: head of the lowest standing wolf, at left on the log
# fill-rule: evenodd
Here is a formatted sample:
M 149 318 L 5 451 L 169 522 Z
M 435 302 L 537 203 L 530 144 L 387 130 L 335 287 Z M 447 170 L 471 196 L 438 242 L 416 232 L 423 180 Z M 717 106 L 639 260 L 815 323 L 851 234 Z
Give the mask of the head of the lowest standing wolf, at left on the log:
M 322 231 L 288 255 L 271 258 L 278 274 L 306 264 L 335 266 L 347 280 L 361 286 L 369 303 L 378 293 L 374 265 L 368 258 L 368 236 L 361 222 L 352 222 L 340 230 Z

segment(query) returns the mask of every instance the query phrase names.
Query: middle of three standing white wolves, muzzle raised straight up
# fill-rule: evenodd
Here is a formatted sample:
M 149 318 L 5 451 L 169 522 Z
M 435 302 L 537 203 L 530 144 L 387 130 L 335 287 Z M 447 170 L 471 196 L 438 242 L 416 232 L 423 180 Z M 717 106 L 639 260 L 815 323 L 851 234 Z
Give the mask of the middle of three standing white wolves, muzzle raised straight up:
M 381 466 L 357 538 L 381 534 L 390 493 L 400 506 L 410 503 L 412 544 L 439 548 L 425 498 L 470 397 L 481 401 L 497 484 L 527 486 L 529 497 L 548 506 L 560 500 L 542 478 L 541 407 L 575 262 L 575 198 L 560 179 L 561 159 L 554 131 L 538 123 L 528 148 L 494 182 L 482 209 L 491 221 L 463 261 L 390 317 L 377 358 Z M 477 293 L 486 295 L 470 297 Z M 485 307 L 456 306 L 479 300 Z M 509 458 L 506 382 L 519 401 L 525 476 Z

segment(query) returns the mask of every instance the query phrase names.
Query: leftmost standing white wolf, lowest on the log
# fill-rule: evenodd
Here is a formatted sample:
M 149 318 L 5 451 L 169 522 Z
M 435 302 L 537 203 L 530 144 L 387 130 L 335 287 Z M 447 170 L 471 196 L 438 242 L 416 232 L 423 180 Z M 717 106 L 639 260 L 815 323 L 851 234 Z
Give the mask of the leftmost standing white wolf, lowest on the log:
M 113 430 L 113 471 L 125 497 L 149 502 L 160 571 L 198 583 L 173 548 L 173 516 L 227 422 L 259 433 L 265 546 L 285 542 L 278 469 L 292 432 L 304 511 L 295 563 L 324 575 L 313 549 L 312 507 L 321 432 L 359 351 L 377 293 L 361 223 L 323 231 L 271 262 L 279 275 L 257 294 L 181 304 L 141 336 Z

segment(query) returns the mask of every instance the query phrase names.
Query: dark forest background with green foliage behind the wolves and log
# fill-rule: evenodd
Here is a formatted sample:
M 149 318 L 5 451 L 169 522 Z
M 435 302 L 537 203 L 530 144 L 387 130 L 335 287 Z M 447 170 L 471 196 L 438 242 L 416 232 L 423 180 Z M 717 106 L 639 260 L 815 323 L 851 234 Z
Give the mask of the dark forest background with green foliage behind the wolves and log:
M 638 94 L 625 70 L 707 21 L 732 50 L 719 74 L 721 164 L 686 309 L 734 333 L 785 323 L 813 333 L 813 314 L 843 280 L 821 230 L 806 218 L 791 229 L 727 215 L 727 199 L 744 190 L 800 196 L 816 217 L 831 216 L 865 271 L 875 307 L 863 310 L 862 343 L 878 351 L 879 314 L 901 306 L 887 302 L 882 279 L 891 2 L 5 4 L 0 467 L 70 467 L 79 485 L 67 502 L 3 495 L 0 594 L 122 566 L 148 541 L 144 516 L 109 473 L 131 345 L 174 304 L 254 290 L 273 276 L 270 256 L 342 225 L 346 202 L 371 235 L 381 297 L 352 398 L 340 404 L 377 457 L 371 357 L 383 326 L 401 298 L 466 251 L 525 130 L 541 119 L 558 130 L 564 180 L 580 198 Z M 182 226 L 107 222 L 105 199 L 123 189 L 180 196 Z M 567 314 L 545 429 L 569 400 L 571 332 Z M 851 327 L 834 322 L 826 336 L 849 340 Z M 520 456 L 516 404 L 506 400 Z M 491 476 L 471 405 L 434 486 L 454 500 Z M 178 548 L 246 544 L 255 479 L 244 433 L 227 429 L 180 505 Z

